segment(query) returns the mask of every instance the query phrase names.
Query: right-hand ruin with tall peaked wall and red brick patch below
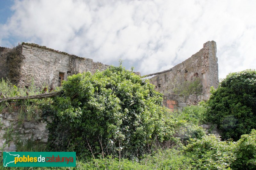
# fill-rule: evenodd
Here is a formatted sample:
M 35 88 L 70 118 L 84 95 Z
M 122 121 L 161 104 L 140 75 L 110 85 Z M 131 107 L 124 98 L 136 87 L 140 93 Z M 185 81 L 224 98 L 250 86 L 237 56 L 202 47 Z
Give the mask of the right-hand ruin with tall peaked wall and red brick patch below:
M 204 43 L 201 50 L 182 63 L 169 70 L 148 75 L 156 75 L 150 78 L 150 83 L 155 85 L 157 91 L 164 94 L 164 106 L 172 111 L 182 110 L 187 104 L 196 105 L 199 101 L 209 99 L 211 86 L 216 89 L 219 85 L 216 52 L 216 42 L 208 41 Z M 201 81 L 202 85 L 199 95 L 189 95 L 185 98 L 183 95 L 173 94 L 175 85 L 181 86 L 184 82 L 194 81 L 196 78 Z

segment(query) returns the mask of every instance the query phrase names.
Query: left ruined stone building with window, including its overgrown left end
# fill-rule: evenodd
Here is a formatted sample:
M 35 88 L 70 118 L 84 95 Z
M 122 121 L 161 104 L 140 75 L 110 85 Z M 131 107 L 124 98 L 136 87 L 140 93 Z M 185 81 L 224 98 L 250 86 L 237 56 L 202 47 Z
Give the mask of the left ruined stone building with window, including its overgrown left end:
M 38 87 L 57 87 L 68 75 L 106 70 L 108 65 L 70 55 L 37 44 L 22 43 L 16 48 L 0 48 L 0 78 L 9 78 L 21 86 L 32 81 Z

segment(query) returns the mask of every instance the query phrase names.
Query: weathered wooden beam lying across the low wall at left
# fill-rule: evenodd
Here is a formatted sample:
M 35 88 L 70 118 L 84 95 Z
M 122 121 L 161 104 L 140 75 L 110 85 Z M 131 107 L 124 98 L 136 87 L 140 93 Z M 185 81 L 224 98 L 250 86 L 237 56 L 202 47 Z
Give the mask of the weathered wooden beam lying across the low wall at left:
M 10 100 L 41 99 L 41 98 L 55 97 L 55 96 L 59 96 L 59 95 L 60 95 L 60 92 L 51 92 L 51 93 L 37 94 L 37 95 L 33 95 L 33 96 L 0 98 L 0 103 L 3 102 L 3 101 L 10 101 Z

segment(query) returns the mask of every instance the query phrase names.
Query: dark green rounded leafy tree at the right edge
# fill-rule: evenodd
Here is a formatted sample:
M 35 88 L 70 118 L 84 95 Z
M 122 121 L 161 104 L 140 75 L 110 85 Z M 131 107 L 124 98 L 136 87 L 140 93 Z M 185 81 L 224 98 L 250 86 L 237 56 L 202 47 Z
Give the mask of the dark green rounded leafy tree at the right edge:
M 223 131 L 222 138 L 238 140 L 256 128 L 256 71 L 230 73 L 208 101 L 209 121 Z

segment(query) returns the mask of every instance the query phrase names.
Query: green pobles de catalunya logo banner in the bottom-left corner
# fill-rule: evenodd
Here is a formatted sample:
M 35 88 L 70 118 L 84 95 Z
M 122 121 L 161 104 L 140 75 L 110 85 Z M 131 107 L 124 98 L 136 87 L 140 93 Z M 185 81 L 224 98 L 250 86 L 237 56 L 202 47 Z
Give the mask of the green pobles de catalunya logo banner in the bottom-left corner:
M 4 167 L 75 167 L 76 152 L 4 152 Z

